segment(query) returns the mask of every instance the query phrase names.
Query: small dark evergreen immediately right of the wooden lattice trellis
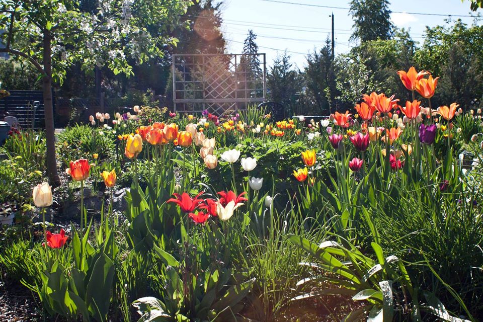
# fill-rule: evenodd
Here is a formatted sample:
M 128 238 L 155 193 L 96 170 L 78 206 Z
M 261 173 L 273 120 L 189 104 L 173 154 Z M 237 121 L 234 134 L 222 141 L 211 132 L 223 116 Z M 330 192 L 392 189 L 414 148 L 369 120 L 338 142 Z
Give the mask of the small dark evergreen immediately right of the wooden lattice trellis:
M 267 75 L 268 100 L 283 104 L 288 114 L 294 113 L 297 93 L 302 90 L 301 75 L 292 66 L 290 55 L 285 52 L 275 58 Z

